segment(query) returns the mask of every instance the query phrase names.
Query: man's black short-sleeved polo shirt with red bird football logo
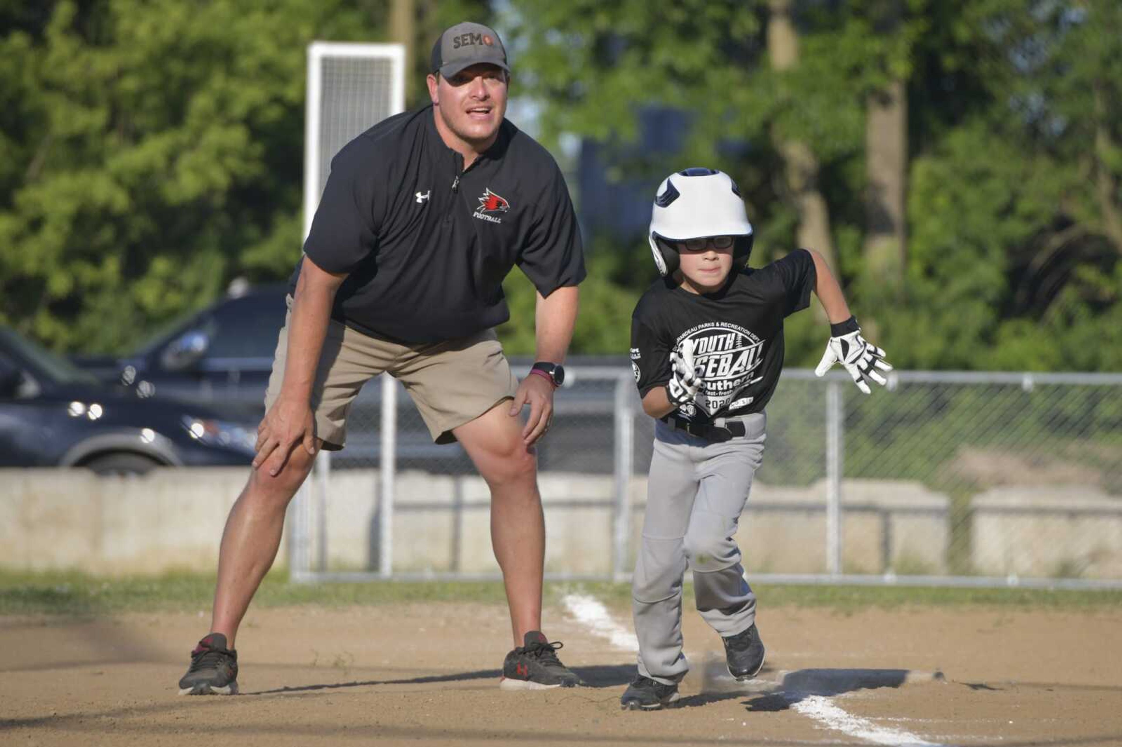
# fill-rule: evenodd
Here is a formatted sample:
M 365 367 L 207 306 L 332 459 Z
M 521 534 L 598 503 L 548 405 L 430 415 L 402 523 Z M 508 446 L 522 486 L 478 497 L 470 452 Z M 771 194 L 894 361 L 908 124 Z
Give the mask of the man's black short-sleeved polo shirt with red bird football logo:
M 503 120 L 465 170 L 431 105 L 379 122 L 335 155 L 304 253 L 349 273 L 334 319 L 411 343 L 507 321 L 503 278 L 515 265 L 543 296 L 585 279 L 577 218 L 549 151 Z M 298 276 L 297 262 L 293 289 Z

